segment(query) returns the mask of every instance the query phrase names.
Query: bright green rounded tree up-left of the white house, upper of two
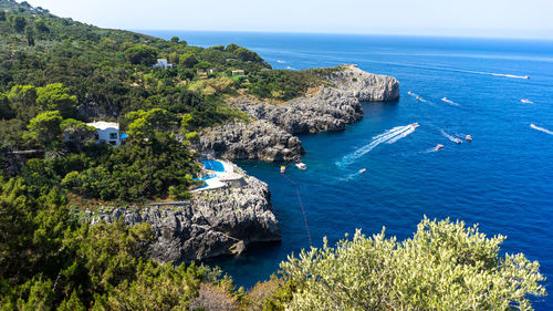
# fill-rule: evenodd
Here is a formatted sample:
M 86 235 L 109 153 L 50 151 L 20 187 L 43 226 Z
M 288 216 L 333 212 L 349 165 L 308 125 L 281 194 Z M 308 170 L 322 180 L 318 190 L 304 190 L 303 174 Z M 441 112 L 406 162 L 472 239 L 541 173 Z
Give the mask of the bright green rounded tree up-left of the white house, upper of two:
M 72 96 L 61 83 L 48 84 L 36 89 L 36 103 L 44 110 L 59 111 L 63 117 L 75 114 L 76 96 Z

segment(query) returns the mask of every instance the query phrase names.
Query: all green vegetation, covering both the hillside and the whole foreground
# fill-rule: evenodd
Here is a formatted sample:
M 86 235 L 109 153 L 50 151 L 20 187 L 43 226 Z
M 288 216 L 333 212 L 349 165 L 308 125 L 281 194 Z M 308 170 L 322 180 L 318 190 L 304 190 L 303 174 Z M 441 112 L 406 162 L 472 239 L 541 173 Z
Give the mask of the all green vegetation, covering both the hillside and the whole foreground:
M 158 58 L 175 66 L 154 69 Z M 503 237 L 462 222 L 425 219 L 404 242 L 325 241 L 244 292 L 217 269 L 152 261 L 146 224 L 83 221 L 97 203 L 188 198 L 197 131 L 246 120 L 228 96 L 286 101 L 340 70 L 273 71 L 236 44 L 189 46 L 0 0 L 0 310 L 531 310 L 545 294 L 538 262 L 500 256 Z M 126 143 L 94 144 L 86 123 L 98 118 L 117 121 Z

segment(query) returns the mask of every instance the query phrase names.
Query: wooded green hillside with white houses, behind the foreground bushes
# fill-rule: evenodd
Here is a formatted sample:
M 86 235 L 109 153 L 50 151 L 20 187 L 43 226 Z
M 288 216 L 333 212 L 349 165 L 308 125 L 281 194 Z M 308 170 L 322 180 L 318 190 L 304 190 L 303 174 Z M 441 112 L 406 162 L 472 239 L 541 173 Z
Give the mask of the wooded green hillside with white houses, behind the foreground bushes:
M 336 70 L 274 71 L 236 44 L 204 49 L 101 29 L 27 2 L 0 0 L 0 166 L 36 191 L 60 186 L 108 201 L 188 197 L 197 154 L 187 141 L 204 127 L 247 118 L 229 97 L 293 99 L 327 84 Z M 157 59 L 174 66 L 156 69 Z M 83 122 L 95 120 L 118 122 L 128 144 L 91 144 Z M 67 131 L 81 137 L 77 144 L 64 142 Z M 10 153 L 18 149 L 45 156 L 24 165 Z

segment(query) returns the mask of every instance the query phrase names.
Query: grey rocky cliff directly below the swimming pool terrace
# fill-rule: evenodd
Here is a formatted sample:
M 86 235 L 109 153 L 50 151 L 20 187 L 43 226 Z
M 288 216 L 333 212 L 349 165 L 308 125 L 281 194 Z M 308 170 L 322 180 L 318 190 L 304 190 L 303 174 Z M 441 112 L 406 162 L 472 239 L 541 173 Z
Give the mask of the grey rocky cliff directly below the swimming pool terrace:
M 243 184 L 204 191 L 187 203 L 102 209 L 90 214 L 88 220 L 96 224 L 122 218 L 128 226 L 150 224 L 155 238 L 148 253 L 161 262 L 239 255 L 251 242 L 281 239 L 268 185 L 251 176 L 244 177 Z

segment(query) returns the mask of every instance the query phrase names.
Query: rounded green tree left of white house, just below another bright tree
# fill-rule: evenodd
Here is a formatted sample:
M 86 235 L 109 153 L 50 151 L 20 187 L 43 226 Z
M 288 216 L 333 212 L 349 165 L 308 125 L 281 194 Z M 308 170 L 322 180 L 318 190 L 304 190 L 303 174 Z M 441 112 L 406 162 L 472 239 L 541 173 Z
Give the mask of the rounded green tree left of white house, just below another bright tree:
M 29 125 L 25 138 L 32 138 L 42 144 L 59 141 L 62 134 L 60 124 L 63 118 L 59 111 L 44 112 L 33 117 Z

